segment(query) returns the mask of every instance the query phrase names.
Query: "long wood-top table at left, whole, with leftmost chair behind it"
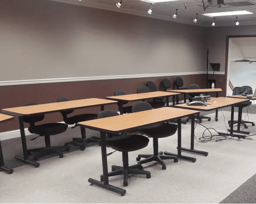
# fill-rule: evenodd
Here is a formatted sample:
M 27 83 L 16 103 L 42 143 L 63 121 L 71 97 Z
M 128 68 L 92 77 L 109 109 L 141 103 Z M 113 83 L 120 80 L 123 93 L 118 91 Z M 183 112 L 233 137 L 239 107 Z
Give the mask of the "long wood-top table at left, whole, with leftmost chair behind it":
M 88 107 L 95 107 L 95 106 L 101 106 L 101 111 L 103 111 L 104 105 L 115 104 L 115 103 L 117 103 L 117 101 L 90 98 L 90 99 L 81 99 L 81 100 L 46 103 L 46 104 L 39 104 L 39 105 L 20 106 L 20 107 L 2 109 L 3 113 L 8 113 L 10 115 L 19 117 L 19 128 L 20 128 L 20 136 L 22 139 L 23 157 L 19 155 L 15 155 L 14 158 L 18 160 L 22 160 L 23 162 L 26 162 L 28 164 L 32 164 L 35 167 L 39 167 L 40 165 L 38 162 L 34 162 L 28 159 L 28 150 L 27 150 L 26 136 L 24 131 L 24 122 L 23 122 L 24 116 L 56 113 L 60 111 L 69 111 L 72 109 L 81 109 L 81 108 L 88 108 Z

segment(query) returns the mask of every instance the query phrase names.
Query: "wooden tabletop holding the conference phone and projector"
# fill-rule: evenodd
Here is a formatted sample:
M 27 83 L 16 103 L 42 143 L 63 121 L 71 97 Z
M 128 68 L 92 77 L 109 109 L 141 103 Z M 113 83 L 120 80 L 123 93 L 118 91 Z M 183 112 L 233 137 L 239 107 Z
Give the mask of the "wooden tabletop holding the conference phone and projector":
M 186 103 L 175 105 L 175 107 L 186 108 L 186 109 L 193 109 L 198 111 L 212 111 L 218 108 L 227 107 L 230 105 L 236 105 L 240 102 L 249 101 L 249 99 L 240 99 L 240 98 L 226 98 L 226 97 L 218 97 L 218 98 L 211 98 L 207 102 L 212 104 L 208 104 L 207 106 L 204 105 L 187 105 Z

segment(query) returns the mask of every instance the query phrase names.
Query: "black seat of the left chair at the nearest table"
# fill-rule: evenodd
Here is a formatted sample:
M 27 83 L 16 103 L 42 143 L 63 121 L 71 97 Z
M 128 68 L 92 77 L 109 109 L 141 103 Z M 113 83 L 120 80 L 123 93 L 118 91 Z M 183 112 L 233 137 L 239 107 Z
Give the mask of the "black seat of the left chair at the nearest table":
M 143 135 L 122 135 L 106 140 L 106 146 L 120 152 L 140 150 L 148 145 L 149 139 Z

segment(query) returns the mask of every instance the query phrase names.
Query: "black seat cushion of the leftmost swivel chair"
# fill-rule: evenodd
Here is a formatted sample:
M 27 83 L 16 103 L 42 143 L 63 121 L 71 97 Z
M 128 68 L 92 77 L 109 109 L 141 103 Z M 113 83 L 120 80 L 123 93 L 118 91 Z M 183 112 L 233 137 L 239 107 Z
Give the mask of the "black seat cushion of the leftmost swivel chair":
M 29 127 L 28 131 L 33 134 L 44 135 L 57 135 L 67 130 L 68 125 L 65 123 L 46 123 L 42 125 L 35 125 Z

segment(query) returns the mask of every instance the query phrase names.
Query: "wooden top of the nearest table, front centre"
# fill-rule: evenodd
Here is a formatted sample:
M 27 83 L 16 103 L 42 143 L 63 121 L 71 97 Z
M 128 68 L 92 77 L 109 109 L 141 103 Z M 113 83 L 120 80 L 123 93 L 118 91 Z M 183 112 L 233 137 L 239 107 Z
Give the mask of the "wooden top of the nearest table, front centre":
M 119 116 L 100 118 L 90 121 L 79 122 L 79 126 L 105 133 L 118 133 L 131 131 L 170 119 L 179 119 L 190 115 L 198 114 L 199 111 L 186 110 L 175 107 L 162 107 L 137 113 L 129 113 Z

